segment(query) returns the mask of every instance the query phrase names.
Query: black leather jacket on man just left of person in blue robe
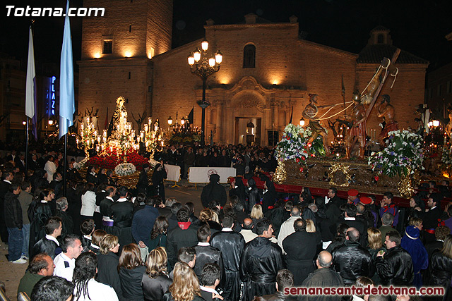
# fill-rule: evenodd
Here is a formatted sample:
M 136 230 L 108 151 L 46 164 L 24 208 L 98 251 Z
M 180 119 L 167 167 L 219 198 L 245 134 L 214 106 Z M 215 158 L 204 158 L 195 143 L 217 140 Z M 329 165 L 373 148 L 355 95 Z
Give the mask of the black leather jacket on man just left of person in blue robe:
M 410 253 L 402 247 L 392 247 L 383 257 L 376 257 L 376 272 L 383 285 L 411 285 L 413 273 Z

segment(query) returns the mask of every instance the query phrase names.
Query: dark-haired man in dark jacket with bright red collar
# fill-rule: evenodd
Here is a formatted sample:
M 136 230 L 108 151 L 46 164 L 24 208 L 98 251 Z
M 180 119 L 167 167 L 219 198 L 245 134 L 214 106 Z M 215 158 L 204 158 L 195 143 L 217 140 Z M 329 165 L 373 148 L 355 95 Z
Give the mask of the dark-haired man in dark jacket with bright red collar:
M 181 247 L 192 247 L 198 243 L 198 233 L 189 221 L 189 209 L 182 207 L 177 211 L 177 227 L 169 231 L 167 238 L 168 266 L 177 261 L 177 252 Z

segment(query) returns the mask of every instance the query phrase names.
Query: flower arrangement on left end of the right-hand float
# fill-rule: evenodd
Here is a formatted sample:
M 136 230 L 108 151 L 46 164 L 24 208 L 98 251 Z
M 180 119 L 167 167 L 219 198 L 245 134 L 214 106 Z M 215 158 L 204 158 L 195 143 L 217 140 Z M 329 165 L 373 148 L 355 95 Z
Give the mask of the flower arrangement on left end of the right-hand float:
M 311 135 L 309 125 L 302 128 L 299 125 L 288 124 L 284 129 L 283 138 L 276 146 L 276 158 L 280 161 L 295 160 L 297 163 L 304 163 L 308 156 L 324 156 L 325 148 L 320 136 L 308 145 Z

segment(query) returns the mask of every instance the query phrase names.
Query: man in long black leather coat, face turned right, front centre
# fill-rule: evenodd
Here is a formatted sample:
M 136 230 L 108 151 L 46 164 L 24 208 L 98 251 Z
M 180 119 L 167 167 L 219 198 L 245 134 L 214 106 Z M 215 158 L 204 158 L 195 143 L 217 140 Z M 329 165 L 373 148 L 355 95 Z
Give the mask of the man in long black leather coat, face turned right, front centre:
M 255 295 L 275 293 L 276 274 L 284 268 L 281 248 L 269 240 L 273 235 L 270 221 L 258 221 L 256 231 L 258 237 L 246 243 L 240 261 L 244 301 L 253 300 Z

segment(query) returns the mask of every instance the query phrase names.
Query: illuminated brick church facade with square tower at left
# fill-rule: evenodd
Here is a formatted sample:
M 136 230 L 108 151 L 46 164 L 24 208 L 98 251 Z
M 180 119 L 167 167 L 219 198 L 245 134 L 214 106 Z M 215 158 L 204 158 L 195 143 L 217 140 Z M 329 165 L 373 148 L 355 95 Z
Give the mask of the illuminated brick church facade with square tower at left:
M 103 6 L 106 13 L 83 20 L 78 111 L 98 108 L 102 130 L 107 107 L 112 112 L 117 97 L 123 96 L 129 116 L 138 118 L 145 112 L 165 128 L 169 116 L 178 114 L 180 119 L 194 108 L 194 125 L 201 126 L 196 101 L 201 99 L 202 82 L 191 73 L 187 56 L 203 39 L 171 49 L 172 1 L 87 0 L 84 5 Z M 318 94 L 319 105 L 342 104 L 345 87 L 348 102 L 354 90 L 364 90 L 381 59 L 396 51 L 384 27 L 371 31 L 359 54 L 309 42 L 299 37 L 295 16 L 287 23 L 269 23 L 251 13 L 241 24 L 208 20 L 204 28 L 209 49 L 223 55 L 206 90 L 206 141 L 211 138 L 217 144 L 246 143 L 250 121 L 257 145 L 276 143 L 272 137 L 280 139 L 291 116 L 292 123 L 299 123 L 308 94 Z M 381 91 L 391 96 L 399 128 L 417 126 L 415 111 L 424 103 L 427 66 L 427 61 L 402 50 L 393 88 L 394 78 L 389 76 Z M 367 121 L 367 135 L 381 130 L 375 111 Z M 326 121 L 323 125 L 328 127 Z

